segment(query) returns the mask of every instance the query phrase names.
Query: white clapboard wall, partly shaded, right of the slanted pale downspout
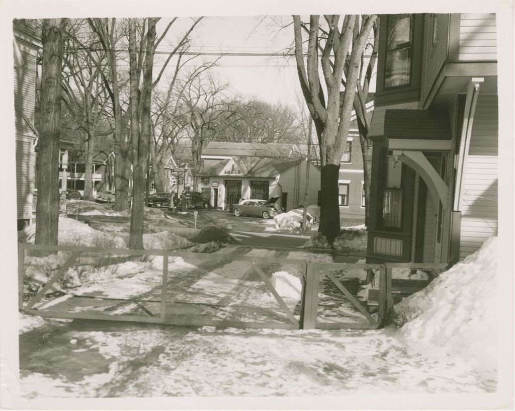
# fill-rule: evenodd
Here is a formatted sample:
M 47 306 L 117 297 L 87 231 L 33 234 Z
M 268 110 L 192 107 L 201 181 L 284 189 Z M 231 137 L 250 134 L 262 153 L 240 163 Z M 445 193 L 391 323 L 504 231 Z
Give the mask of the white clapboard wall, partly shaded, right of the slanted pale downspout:
M 497 235 L 497 118 L 497 96 L 479 95 L 465 175 L 460 259 Z

